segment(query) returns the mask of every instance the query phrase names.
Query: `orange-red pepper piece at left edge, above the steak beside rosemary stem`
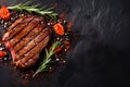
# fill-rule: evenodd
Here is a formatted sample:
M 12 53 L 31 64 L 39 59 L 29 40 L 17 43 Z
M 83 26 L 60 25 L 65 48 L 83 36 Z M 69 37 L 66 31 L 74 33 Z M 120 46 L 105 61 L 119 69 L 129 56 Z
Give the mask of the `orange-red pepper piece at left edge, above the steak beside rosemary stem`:
M 1 7 L 0 9 L 0 17 L 3 20 L 9 20 L 11 17 L 11 13 L 6 7 Z

